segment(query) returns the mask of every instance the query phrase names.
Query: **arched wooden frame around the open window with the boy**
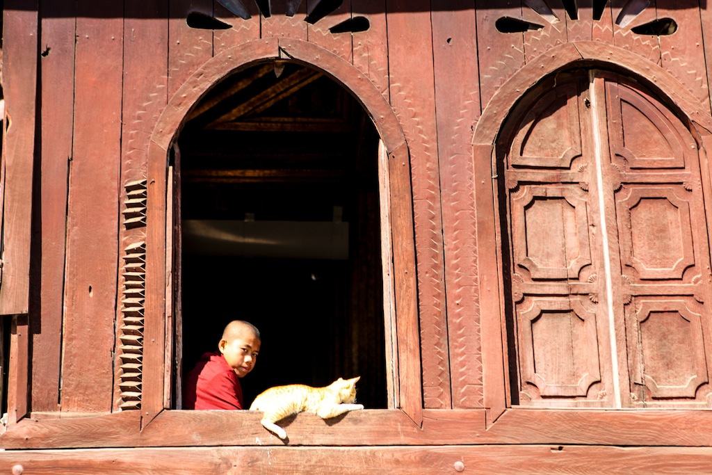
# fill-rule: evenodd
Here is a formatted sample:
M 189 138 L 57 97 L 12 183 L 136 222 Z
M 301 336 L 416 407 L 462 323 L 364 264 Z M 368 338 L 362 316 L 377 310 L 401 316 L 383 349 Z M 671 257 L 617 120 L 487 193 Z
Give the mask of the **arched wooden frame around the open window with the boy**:
M 211 58 L 171 98 L 150 140 L 147 170 L 146 298 L 143 349 L 143 425 L 164 408 L 164 289 L 167 284 L 167 157 L 190 110 L 226 76 L 256 62 L 283 59 L 324 71 L 361 103 L 372 118 L 388 154 L 394 300 L 397 311 L 399 406 L 422 424 L 422 384 L 417 275 L 409 152 L 402 128 L 383 95 L 352 64 L 311 43 L 266 38 L 234 46 Z

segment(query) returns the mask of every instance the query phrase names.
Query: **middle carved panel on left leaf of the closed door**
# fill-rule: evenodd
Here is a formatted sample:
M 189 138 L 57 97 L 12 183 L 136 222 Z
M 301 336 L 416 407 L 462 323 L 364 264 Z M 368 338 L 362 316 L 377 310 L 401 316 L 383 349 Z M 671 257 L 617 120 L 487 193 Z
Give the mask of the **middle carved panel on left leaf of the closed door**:
M 511 196 L 515 273 L 577 279 L 590 266 L 587 192 L 575 184 L 522 185 Z

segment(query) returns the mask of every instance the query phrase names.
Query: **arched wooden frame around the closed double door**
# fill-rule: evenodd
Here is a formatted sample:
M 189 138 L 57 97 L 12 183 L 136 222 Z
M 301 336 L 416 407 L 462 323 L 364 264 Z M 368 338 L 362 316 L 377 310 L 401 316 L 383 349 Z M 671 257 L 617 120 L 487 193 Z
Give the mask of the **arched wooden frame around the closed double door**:
M 473 135 L 473 165 L 476 173 L 475 204 L 477 213 L 478 272 L 481 306 L 481 335 L 484 404 L 487 424 L 494 422 L 508 404 L 505 380 L 506 354 L 503 342 L 503 288 L 497 246 L 497 217 L 493 179 L 495 142 L 515 104 L 548 75 L 582 66 L 610 66 L 624 75 L 639 78 L 669 98 L 684 115 L 696 140 L 701 142 L 701 160 L 712 147 L 712 115 L 679 80 L 663 68 L 616 46 L 582 41 L 551 48 L 515 73 L 493 95 L 483 110 Z M 703 167 L 703 169 L 706 169 Z M 703 177 L 707 183 L 710 177 Z

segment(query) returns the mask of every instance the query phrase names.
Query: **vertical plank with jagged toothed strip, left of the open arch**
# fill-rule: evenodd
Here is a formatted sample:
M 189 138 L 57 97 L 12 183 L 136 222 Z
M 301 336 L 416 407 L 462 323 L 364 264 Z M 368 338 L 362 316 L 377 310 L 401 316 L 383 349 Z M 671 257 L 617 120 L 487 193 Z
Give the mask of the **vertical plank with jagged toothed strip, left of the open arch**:
M 140 367 L 125 365 L 127 336 L 125 328 L 131 328 L 131 334 L 142 333 L 140 320 L 125 320 L 125 299 L 140 295 L 141 281 L 125 275 L 125 249 L 134 249 L 145 241 L 145 221 L 127 221 L 138 210 L 130 199 L 136 200 L 145 193 L 148 147 L 153 127 L 167 103 L 167 61 L 168 61 L 168 15 L 167 0 L 129 1 L 125 4 L 124 51 L 123 51 L 123 93 L 122 93 L 122 147 L 120 176 L 120 206 L 123 223 L 119 230 L 119 255 L 117 266 L 120 268 L 116 309 L 116 348 L 115 348 L 115 384 L 113 409 L 134 408 L 135 395 L 127 393 L 141 392 L 142 372 Z M 147 16 L 148 18 L 141 18 Z M 132 207 L 129 209 L 129 207 Z M 145 217 L 145 210 L 143 212 Z M 145 291 L 145 289 L 143 289 Z M 130 293 L 134 292 L 134 293 Z M 141 335 L 142 336 L 142 335 Z M 138 343 L 141 343 L 139 340 Z M 132 350 L 135 351 L 135 350 Z M 138 353 L 137 353 L 138 354 Z M 170 353 L 169 353 L 170 355 Z M 136 381 L 138 380 L 138 381 Z M 120 383 L 132 382 L 135 387 L 121 387 Z M 124 393 L 124 395 L 122 395 Z

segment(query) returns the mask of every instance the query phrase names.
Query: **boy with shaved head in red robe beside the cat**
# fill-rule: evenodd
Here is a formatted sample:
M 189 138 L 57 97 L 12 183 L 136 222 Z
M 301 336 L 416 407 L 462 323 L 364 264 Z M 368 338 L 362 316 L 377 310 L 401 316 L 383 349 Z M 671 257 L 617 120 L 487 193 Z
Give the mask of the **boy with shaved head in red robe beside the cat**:
M 183 385 L 184 409 L 243 409 L 239 378 L 255 367 L 260 343 L 260 332 L 251 323 L 228 323 L 219 351 L 202 355 L 188 373 Z

